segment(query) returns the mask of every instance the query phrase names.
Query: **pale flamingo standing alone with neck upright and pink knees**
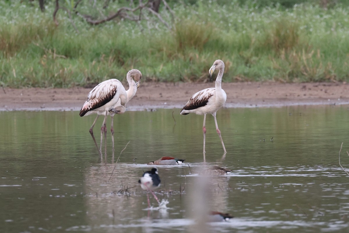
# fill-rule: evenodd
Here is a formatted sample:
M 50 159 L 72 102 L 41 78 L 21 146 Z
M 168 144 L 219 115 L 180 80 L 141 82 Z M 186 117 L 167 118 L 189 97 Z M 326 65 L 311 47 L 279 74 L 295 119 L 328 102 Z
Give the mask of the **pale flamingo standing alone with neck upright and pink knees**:
M 215 70 L 219 69 L 217 78 L 216 78 L 216 85 L 215 87 L 206 88 L 203 90 L 200 90 L 199 92 L 196 92 L 188 102 L 185 104 L 183 109 L 180 111 L 181 115 L 187 115 L 190 113 L 195 113 L 198 115 L 203 115 L 203 153 L 205 153 L 205 143 L 206 143 L 206 114 L 211 114 L 215 119 L 216 124 L 216 131 L 218 133 L 218 136 L 221 139 L 221 143 L 223 146 L 224 153 L 227 151 L 225 150 L 225 146 L 223 143 L 223 139 L 221 136 L 221 131 L 218 129 L 217 119 L 216 119 L 216 112 L 217 110 L 222 107 L 222 105 L 227 100 L 227 94 L 225 94 L 224 90 L 222 89 L 222 77 L 224 72 L 224 63 L 222 60 L 216 60 L 213 65 L 211 66 L 209 70 L 210 78 L 212 79 L 212 74 Z

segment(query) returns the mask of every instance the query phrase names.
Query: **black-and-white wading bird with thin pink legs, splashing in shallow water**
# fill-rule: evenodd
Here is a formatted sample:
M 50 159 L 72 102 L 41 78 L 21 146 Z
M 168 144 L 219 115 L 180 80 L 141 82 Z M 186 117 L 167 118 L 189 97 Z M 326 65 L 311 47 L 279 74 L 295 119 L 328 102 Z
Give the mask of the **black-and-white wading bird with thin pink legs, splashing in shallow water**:
M 138 181 L 138 183 L 141 184 L 141 188 L 144 190 L 150 191 L 158 203 L 160 203 L 159 199 L 154 194 L 153 190 L 157 189 L 160 186 L 160 182 L 161 180 L 156 168 L 152 168 L 150 171 L 144 172 L 142 177 Z M 147 201 L 148 201 L 148 207 L 150 207 L 148 192 L 147 192 Z

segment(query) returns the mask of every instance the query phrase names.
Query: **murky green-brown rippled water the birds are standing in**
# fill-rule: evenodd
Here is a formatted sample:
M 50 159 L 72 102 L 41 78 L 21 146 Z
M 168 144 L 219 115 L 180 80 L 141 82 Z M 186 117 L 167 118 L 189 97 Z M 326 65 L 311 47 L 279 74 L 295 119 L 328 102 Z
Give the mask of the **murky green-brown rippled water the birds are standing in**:
M 203 181 L 202 116 L 168 109 L 115 118 L 116 158 L 131 141 L 117 164 L 109 131 L 107 163 L 97 154 L 88 132 L 94 116 L 0 112 L 0 231 L 348 231 L 349 176 L 338 163 L 343 142 L 341 163 L 349 168 L 348 106 L 221 109 L 228 153 L 208 116 L 205 159 L 233 172 Z M 148 210 L 137 181 L 152 167 L 147 162 L 165 155 L 187 163 L 158 167 L 156 194 L 168 208 Z M 197 224 L 205 207 L 235 218 Z

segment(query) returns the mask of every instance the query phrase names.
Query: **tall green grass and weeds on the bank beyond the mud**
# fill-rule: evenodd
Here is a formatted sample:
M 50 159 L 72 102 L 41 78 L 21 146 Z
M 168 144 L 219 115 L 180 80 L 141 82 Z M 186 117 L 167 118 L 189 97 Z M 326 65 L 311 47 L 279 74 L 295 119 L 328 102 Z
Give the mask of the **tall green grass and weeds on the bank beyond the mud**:
M 68 3 L 74 1 L 61 2 L 72 11 L 74 4 Z M 140 25 L 115 20 L 90 26 L 63 9 L 56 26 L 53 3 L 42 13 L 30 2 L 2 1 L 0 86 L 85 86 L 112 77 L 125 80 L 132 68 L 147 80 L 203 81 L 216 59 L 225 62 L 225 82 L 349 81 L 345 1 L 319 1 L 328 2 L 327 8 L 315 0 L 186 2 L 169 1 L 173 23 L 160 8 L 172 25 L 167 29 L 154 15 Z M 110 3 L 104 14 L 120 6 Z M 100 15 L 89 5 L 80 9 Z

